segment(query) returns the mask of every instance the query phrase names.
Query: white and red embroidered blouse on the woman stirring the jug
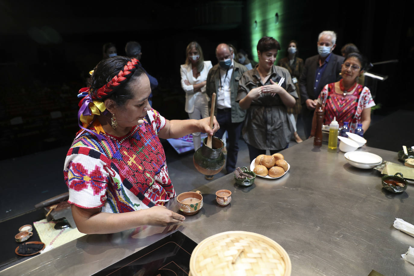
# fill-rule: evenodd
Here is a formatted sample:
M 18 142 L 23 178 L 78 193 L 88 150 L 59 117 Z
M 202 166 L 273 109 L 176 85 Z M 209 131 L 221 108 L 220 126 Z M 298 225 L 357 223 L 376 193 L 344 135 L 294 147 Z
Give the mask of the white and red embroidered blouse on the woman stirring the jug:
M 67 152 L 64 176 L 69 200 L 81 208 L 123 213 L 164 205 L 176 196 L 158 138 L 166 120 L 151 109 L 124 137 L 84 132 Z

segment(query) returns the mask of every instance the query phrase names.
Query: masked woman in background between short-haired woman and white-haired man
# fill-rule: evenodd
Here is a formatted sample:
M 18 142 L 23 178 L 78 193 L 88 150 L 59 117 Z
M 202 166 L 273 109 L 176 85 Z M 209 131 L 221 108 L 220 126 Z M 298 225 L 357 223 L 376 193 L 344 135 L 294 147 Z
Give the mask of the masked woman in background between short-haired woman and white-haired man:
M 301 77 L 303 71 L 303 59 L 298 58 L 298 43 L 295 40 L 289 41 L 286 53 L 286 58 L 279 60 L 277 65 L 284 67 L 289 71 L 292 77 L 292 82 L 295 84 L 296 92 L 298 93 L 295 106 L 293 108 L 287 108 L 287 112 L 289 113 L 289 119 L 291 120 L 295 130 L 293 138 L 297 143 L 301 143 L 303 141 L 297 132 L 296 122 L 298 114 L 302 109 L 298 79 Z

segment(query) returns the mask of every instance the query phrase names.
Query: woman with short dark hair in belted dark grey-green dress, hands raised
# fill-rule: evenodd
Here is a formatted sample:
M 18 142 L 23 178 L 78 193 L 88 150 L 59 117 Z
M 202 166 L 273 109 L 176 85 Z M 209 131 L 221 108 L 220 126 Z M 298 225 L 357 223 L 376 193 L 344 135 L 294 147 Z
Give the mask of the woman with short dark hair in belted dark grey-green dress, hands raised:
M 289 71 L 274 65 L 279 42 L 264 36 L 257 50 L 259 65 L 242 75 L 236 98 L 247 109 L 242 134 L 250 160 L 267 149 L 273 154 L 288 147 L 294 129 L 286 107 L 293 107 L 298 97 Z

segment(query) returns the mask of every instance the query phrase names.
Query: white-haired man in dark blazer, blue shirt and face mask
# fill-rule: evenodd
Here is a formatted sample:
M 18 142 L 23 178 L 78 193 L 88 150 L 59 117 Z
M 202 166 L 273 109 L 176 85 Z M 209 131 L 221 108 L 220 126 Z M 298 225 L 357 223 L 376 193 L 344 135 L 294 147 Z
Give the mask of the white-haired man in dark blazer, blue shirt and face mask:
M 299 87 L 301 90 L 302 118 L 305 136 L 310 136 L 313 113 L 317 99 L 323 86 L 341 79 L 341 65 L 344 57 L 335 55 L 332 51 L 336 46 L 336 34 L 333 31 L 323 31 L 318 37 L 318 55 L 307 58 Z

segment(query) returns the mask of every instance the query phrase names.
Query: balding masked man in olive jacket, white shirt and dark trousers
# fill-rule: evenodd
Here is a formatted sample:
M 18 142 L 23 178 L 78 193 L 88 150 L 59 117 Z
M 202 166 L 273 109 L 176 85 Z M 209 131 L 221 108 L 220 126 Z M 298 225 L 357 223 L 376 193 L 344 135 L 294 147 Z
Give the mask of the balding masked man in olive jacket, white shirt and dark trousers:
M 238 139 L 246 117 L 246 110 L 242 110 L 235 100 L 238 81 L 247 68 L 233 60 L 233 51 L 227 44 L 222 43 L 217 46 L 216 57 L 219 64 L 214 65 L 207 75 L 206 93 L 210 101 L 212 94 L 214 92 L 217 94 L 214 115 L 216 115 L 220 129 L 214 136 L 221 139 L 226 130 L 229 133 L 226 141 L 226 170 L 227 173 L 232 173 L 236 169 Z

